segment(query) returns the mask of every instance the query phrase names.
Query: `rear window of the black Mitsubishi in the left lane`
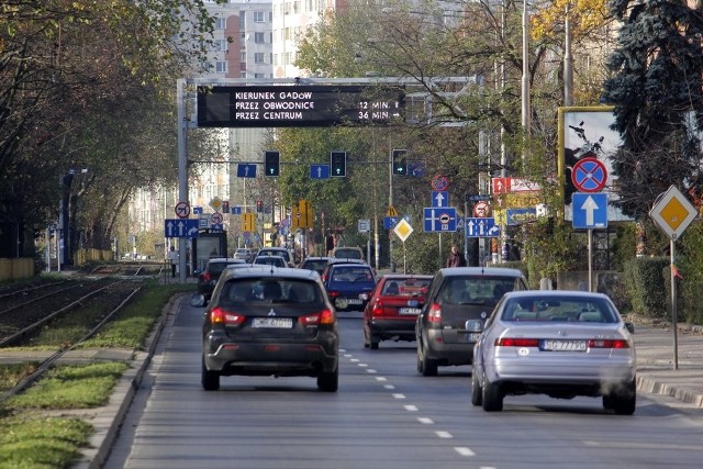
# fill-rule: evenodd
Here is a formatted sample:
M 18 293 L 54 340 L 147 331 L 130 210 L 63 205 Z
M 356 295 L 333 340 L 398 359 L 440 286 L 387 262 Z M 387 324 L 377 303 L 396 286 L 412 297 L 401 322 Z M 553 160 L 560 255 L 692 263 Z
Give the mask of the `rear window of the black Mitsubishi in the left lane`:
M 233 279 L 222 287 L 222 302 L 236 306 L 245 303 L 324 303 L 317 283 L 292 279 Z

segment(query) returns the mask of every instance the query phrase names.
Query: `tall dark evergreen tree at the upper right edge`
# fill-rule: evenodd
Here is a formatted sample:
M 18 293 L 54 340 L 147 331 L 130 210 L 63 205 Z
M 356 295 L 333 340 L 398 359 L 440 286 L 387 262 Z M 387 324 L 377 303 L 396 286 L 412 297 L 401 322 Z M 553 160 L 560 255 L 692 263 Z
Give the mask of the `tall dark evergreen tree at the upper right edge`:
M 703 16 L 684 1 L 612 0 L 610 8 L 623 21 L 603 92 L 623 137 L 614 203 L 644 220 L 669 186 L 688 191 L 703 182 Z

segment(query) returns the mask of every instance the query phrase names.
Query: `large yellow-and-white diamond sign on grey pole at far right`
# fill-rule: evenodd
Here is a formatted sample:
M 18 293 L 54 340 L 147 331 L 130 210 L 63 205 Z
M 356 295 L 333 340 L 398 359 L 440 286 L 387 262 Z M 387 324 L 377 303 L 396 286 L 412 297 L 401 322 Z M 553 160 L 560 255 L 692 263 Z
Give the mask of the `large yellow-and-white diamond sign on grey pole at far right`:
M 655 205 L 649 211 L 649 216 L 655 224 L 669 237 L 670 259 L 670 278 L 671 278 L 671 330 L 673 331 L 673 369 L 679 369 L 679 342 L 677 337 L 677 268 L 673 264 L 676 260 L 676 241 L 689 227 L 693 219 L 698 215 L 695 206 L 677 189 L 676 186 L 660 194 Z

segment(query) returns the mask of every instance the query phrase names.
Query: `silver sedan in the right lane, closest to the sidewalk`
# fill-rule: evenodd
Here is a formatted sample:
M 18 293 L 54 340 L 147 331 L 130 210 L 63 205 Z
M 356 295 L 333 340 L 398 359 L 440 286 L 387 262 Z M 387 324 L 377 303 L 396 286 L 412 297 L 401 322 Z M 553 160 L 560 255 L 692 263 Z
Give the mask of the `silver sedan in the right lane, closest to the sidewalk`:
M 481 330 L 481 324 L 467 328 Z M 503 410 L 505 395 L 602 397 L 616 414 L 635 412 L 635 348 L 615 304 L 602 293 L 505 293 L 473 347 L 471 403 Z

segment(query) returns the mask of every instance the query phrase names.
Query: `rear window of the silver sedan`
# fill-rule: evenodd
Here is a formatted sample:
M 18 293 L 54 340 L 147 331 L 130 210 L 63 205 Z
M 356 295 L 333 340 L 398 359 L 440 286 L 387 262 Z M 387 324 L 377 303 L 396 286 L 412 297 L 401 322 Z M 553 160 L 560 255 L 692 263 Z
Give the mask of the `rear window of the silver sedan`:
M 505 303 L 502 321 L 549 321 L 579 323 L 616 323 L 617 317 L 604 300 L 573 298 L 511 299 Z

